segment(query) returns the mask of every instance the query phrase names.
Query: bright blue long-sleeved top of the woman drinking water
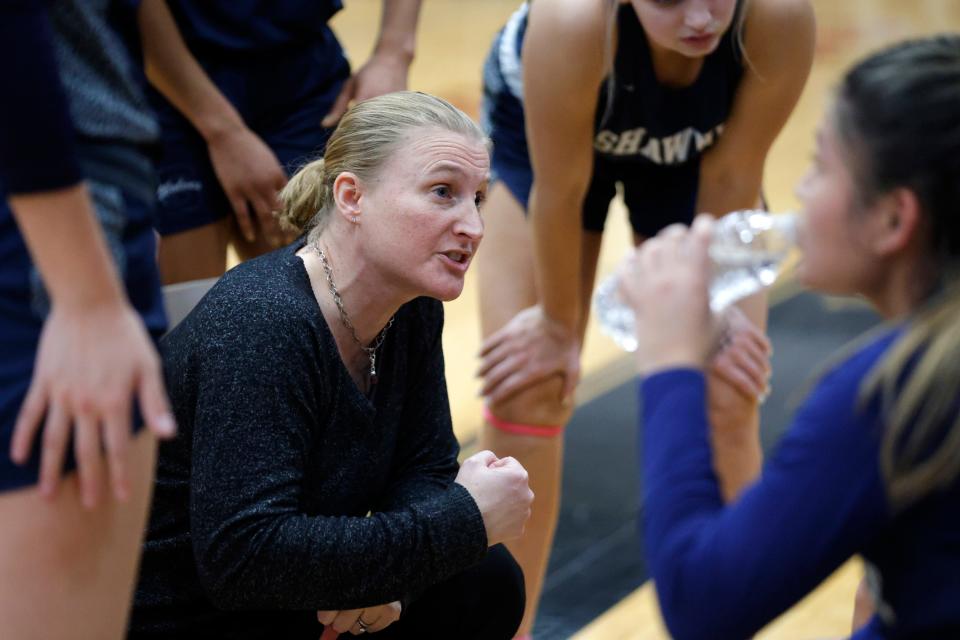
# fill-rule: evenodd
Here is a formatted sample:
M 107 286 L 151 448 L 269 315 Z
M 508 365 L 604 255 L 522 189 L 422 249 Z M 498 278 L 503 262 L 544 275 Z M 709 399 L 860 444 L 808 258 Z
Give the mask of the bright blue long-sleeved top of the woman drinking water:
M 748 638 L 860 553 L 877 614 L 855 638 L 960 638 L 960 481 L 895 509 L 880 466 L 886 401 L 860 396 L 899 335 L 824 375 L 760 478 L 728 505 L 703 374 L 643 382 L 644 545 L 674 637 Z

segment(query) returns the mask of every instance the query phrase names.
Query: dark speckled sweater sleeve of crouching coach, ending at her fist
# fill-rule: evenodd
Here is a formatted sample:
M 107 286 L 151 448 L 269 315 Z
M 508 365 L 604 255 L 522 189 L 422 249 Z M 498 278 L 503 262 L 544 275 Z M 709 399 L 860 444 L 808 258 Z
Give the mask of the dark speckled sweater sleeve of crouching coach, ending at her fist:
M 218 338 L 197 355 L 191 536 L 208 597 L 228 610 L 350 609 L 400 600 L 472 564 L 476 533 L 449 526 L 475 518 L 459 485 L 370 517 L 300 508 L 312 425 L 330 410 L 318 390 L 329 382 L 279 306 L 248 306 L 246 324 L 213 310 Z

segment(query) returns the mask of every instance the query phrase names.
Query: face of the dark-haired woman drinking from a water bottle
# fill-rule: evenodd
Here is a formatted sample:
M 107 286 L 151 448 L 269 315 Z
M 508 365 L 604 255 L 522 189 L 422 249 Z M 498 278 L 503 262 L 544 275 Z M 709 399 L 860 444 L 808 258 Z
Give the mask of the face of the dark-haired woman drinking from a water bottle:
M 817 130 L 813 164 L 797 185 L 802 205 L 797 278 L 804 286 L 826 293 L 864 293 L 877 274 L 868 247 L 875 215 L 856 204 L 850 154 L 843 152 L 832 120 L 826 118 Z

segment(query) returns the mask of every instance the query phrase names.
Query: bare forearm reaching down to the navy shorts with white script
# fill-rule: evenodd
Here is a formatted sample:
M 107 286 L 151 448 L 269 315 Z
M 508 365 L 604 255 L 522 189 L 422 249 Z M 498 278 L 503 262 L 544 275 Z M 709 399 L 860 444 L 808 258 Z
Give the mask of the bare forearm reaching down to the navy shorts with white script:
M 165 0 L 144 0 L 138 22 L 150 84 L 205 140 L 246 126 L 187 48 Z

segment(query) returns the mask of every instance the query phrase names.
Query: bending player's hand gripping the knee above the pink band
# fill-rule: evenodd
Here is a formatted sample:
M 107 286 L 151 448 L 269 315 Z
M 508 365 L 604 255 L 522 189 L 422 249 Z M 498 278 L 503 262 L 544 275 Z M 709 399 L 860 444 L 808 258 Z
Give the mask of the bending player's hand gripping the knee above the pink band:
M 555 375 L 568 401 L 580 380 L 580 339 L 540 306 L 515 315 L 480 347 L 481 394 L 496 403 Z

